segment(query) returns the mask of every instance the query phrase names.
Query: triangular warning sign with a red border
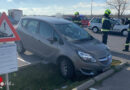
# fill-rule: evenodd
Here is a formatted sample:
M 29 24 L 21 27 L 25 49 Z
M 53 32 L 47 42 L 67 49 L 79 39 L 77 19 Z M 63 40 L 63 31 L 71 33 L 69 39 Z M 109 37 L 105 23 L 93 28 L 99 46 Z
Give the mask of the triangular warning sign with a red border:
M 20 40 L 15 28 L 9 21 L 5 13 L 0 18 L 0 42 Z

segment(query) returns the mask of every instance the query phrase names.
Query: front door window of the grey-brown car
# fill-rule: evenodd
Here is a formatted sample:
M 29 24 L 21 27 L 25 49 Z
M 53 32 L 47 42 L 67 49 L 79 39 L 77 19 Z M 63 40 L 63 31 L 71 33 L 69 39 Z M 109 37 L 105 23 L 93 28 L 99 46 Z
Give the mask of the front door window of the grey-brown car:
M 52 37 L 53 28 L 45 22 L 40 22 L 39 34 L 42 37 L 48 39 L 48 38 Z

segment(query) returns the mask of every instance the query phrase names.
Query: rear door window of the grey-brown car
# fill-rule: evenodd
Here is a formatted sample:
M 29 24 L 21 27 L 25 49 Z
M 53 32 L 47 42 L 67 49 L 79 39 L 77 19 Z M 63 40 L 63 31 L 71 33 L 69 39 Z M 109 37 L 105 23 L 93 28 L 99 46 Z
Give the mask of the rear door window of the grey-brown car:
M 37 20 L 30 20 L 26 26 L 26 30 L 30 33 L 36 33 L 38 31 L 38 24 Z

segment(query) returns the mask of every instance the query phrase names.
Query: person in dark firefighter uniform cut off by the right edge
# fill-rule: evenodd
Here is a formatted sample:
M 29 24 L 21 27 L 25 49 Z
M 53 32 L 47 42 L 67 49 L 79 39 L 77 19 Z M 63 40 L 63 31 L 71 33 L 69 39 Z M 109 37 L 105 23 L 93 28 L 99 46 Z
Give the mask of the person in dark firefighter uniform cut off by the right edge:
M 129 24 L 129 28 L 128 28 L 128 36 L 126 37 L 126 43 L 125 43 L 125 49 L 123 49 L 123 51 L 129 51 L 129 44 L 130 44 L 130 20 L 128 20 L 128 18 L 126 18 L 126 23 L 125 24 Z

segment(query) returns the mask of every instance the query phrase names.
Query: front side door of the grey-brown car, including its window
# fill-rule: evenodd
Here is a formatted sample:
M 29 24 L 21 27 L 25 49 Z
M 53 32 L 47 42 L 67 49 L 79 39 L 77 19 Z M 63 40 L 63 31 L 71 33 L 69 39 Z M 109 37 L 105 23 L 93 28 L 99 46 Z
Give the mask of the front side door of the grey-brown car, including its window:
M 39 26 L 39 42 L 37 43 L 38 52 L 44 58 L 52 59 L 56 57 L 58 50 L 58 39 L 54 40 L 54 37 L 57 36 L 54 28 L 46 23 L 41 21 Z M 57 37 L 55 37 L 57 38 Z

